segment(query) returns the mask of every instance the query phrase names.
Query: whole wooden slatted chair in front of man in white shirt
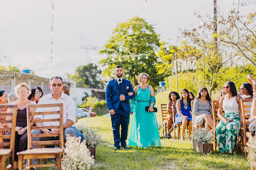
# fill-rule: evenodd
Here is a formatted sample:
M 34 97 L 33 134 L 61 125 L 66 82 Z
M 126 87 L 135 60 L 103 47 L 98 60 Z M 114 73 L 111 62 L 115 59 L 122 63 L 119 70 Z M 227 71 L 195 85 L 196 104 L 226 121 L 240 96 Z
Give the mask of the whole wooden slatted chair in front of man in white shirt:
M 59 111 L 55 112 L 36 112 L 34 111 L 36 108 L 52 108 L 57 107 Z M 32 120 L 32 115 L 41 114 L 59 114 L 59 118 L 51 118 L 51 119 L 35 119 Z M 63 104 L 37 104 L 37 105 L 28 105 L 27 109 L 27 121 L 28 121 L 28 150 L 18 152 L 18 167 L 19 170 L 22 170 L 22 167 L 55 167 L 57 166 L 58 170 L 61 170 L 61 157 L 63 155 L 62 147 L 64 146 L 64 133 L 63 133 Z M 59 121 L 60 124 L 57 126 L 31 126 L 31 122 L 55 122 Z M 31 131 L 33 129 L 60 129 L 59 133 L 38 133 L 33 134 Z M 48 140 L 48 141 L 32 141 L 32 137 L 56 137 L 59 136 L 59 140 Z M 59 145 L 58 148 L 37 148 L 32 149 L 32 145 Z M 48 158 L 57 158 L 57 164 L 41 164 L 41 159 Z M 29 159 L 29 165 L 22 165 L 22 160 Z M 38 165 L 30 165 L 31 159 L 39 159 Z

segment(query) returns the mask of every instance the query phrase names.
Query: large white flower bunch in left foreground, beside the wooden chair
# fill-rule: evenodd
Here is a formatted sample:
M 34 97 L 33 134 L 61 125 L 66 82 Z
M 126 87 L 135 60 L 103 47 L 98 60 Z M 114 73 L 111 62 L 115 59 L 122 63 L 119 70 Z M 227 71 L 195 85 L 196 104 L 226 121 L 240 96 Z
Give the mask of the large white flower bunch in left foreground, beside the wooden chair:
M 63 148 L 64 156 L 61 159 L 62 170 L 86 170 L 90 169 L 94 163 L 86 142 L 80 143 L 80 141 L 80 137 L 71 137 L 67 134 L 67 141 L 65 148 Z

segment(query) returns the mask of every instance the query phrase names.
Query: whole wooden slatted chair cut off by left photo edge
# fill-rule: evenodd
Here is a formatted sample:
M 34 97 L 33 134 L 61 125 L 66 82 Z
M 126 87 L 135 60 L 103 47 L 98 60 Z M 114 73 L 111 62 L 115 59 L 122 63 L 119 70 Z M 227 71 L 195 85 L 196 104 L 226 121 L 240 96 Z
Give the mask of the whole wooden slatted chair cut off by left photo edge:
M 12 112 L 2 112 L 2 110 L 12 110 Z M 13 169 L 14 170 L 14 144 L 15 144 L 15 126 L 16 126 L 16 119 L 17 119 L 17 105 L 0 105 L 0 115 L 1 116 L 11 116 L 11 120 L 0 120 L 2 124 L 10 124 L 11 128 L 2 128 L 0 127 L 1 132 L 10 131 L 10 135 L 0 135 L 0 139 L 10 139 L 9 142 L 2 142 L 0 143 L 0 147 L 5 147 L 0 149 L 0 159 L 1 159 L 1 166 L 0 169 Z M 7 149 L 9 147 L 9 149 Z M 10 158 L 10 165 L 5 167 L 5 161 L 7 158 Z

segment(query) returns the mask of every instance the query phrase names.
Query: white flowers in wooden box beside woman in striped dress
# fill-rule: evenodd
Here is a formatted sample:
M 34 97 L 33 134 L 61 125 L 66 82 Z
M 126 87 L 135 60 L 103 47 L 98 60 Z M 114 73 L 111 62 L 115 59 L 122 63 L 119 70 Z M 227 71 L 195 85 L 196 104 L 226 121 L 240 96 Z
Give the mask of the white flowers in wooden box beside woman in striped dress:
M 195 129 L 192 132 L 192 138 L 197 143 L 201 144 L 211 144 L 212 141 L 214 141 L 214 135 L 211 131 L 209 131 L 207 128 L 200 128 L 197 130 Z

